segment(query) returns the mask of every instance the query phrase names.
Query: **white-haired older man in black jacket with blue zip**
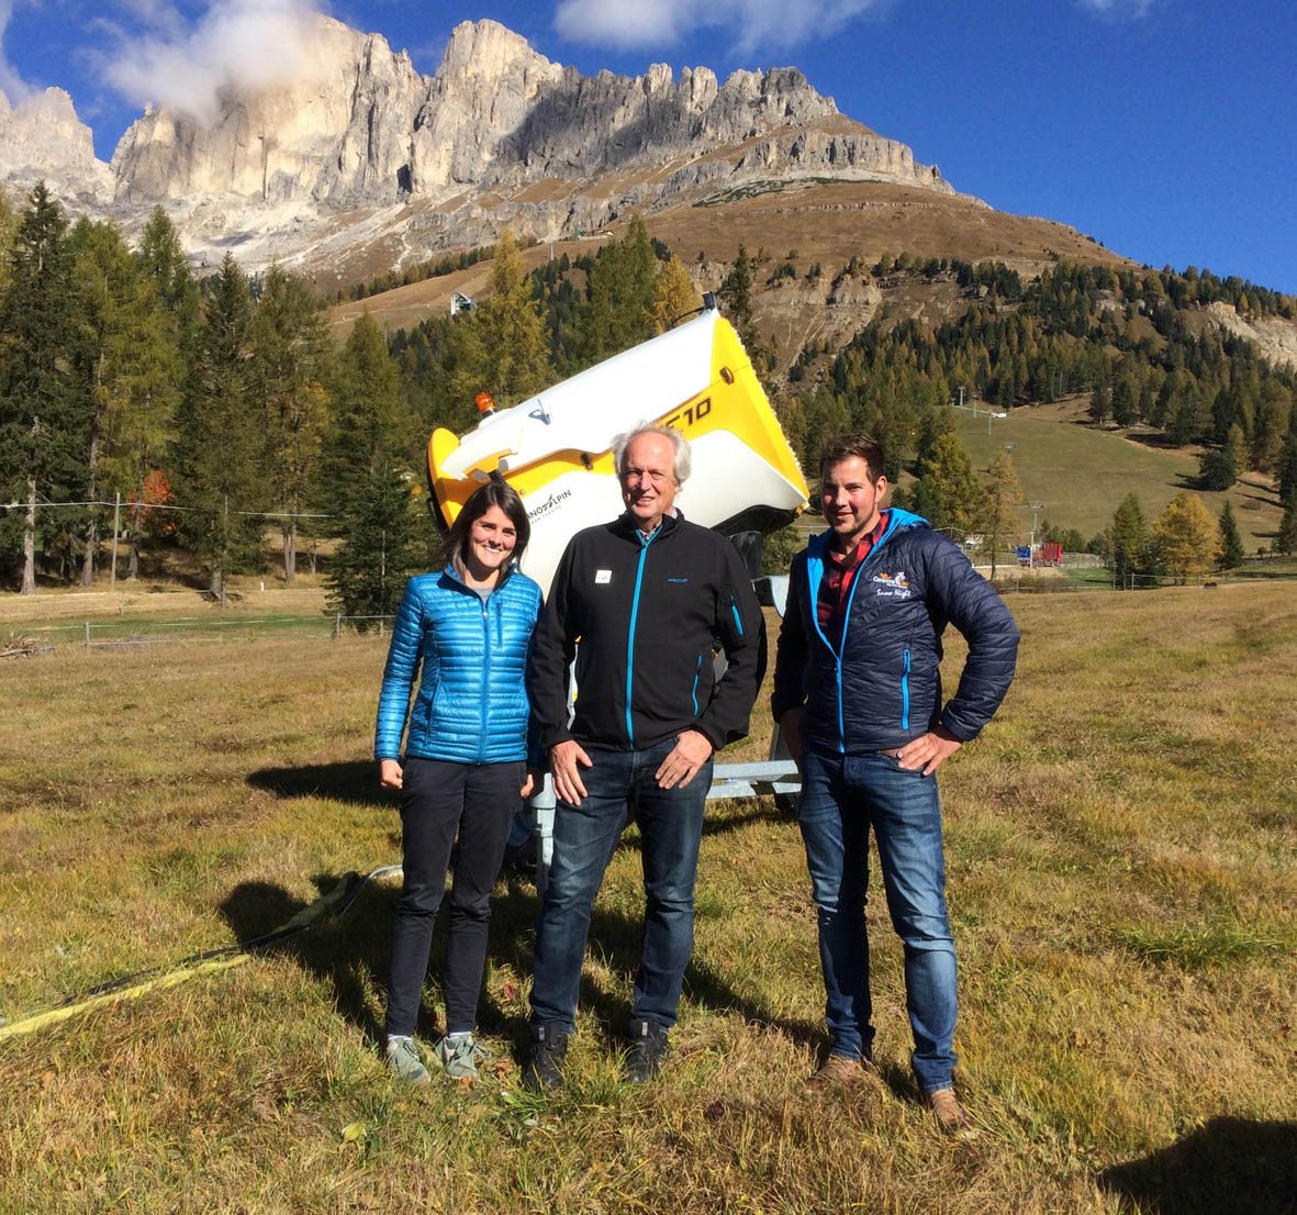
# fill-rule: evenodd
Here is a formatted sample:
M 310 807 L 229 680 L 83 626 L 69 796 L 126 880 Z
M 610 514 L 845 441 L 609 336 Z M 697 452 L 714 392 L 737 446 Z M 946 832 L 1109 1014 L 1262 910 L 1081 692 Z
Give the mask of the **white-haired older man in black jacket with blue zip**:
M 536 935 L 524 1083 L 555 1088 L 575 1028 L 590 907 L 633 809 L 645 928 L 628 1036 L 629 1074 L 658 1075 L 694 946 L 694 879 L 712 753 L 747 733 L 765 626 L 721 535 L 674 509 L 689 444 L 642 427 L 616 447 L 626 513 L 573 536 L 532 643 L 528 694 L 558 809 Z M 712 645 L 729 667 L 712 685 Z M 577 641 L 580 640 L 580 645 Z M 567 672 L 577 700 L 567 722 Z

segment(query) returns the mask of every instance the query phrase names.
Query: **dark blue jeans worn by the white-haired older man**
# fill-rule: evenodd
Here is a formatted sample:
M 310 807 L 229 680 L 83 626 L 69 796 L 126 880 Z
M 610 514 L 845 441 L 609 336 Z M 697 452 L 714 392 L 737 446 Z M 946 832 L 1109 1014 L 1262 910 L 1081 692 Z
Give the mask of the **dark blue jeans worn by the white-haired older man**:
M 580 806 L 560 801 L 555 807 L 554 862 L 536 931 L 532 1024 L 576 1028 L 590 909 L 630 810 L 639 826 L 645 875 L 645 927 L 632 1015 L 664 1027 L 676 1024 L 685 967 L 694 951 L 694 879 L 712 761 L 685 788 L 660 789 L 654 772 L 674 745 L 671 737 L 643 750 L 588 746 L 594 766 L 580 770 L 586 797 Z

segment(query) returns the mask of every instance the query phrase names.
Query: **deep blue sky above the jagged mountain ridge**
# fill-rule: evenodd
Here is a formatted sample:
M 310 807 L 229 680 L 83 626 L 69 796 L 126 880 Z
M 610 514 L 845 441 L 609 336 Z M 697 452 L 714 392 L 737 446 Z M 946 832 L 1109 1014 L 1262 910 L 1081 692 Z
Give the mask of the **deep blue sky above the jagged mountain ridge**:
M 280 70 L 310 8 L 427 73 L 482 17 L 588 74 L 791 64 L 992 206 L 1297 295 L 1292 0 L 0 0 L 0 87 L 62 86 L 108 158 L 144 90 Z

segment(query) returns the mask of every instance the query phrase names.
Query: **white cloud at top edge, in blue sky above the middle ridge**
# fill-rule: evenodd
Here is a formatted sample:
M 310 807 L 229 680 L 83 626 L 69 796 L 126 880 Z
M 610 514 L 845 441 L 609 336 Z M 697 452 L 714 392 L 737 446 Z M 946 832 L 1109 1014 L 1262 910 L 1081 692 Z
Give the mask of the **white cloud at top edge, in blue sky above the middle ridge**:
M 790 47 L 842 29 L 887 0 L 560 0 L 554 26 L 572 42 L 663 45 L 693 30 L 722 26 L 741 52 Z

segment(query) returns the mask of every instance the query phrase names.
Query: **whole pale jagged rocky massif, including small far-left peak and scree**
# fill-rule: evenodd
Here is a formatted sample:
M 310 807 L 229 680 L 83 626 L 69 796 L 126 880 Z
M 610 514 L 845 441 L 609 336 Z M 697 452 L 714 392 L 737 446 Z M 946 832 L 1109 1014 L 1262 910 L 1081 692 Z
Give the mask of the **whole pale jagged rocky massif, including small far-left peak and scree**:
M 838 113 L 796 70 L 706 68 L 677 80 L 582 77 L 493 21 L 455 27 L 436 75 L 376 34 L 320 17 L 291 83 L 228 90 L 215 117 L 152 110 L 112 165 L 66 93 L 0 109 L 0 180 L 48 178 L 128 228 L 163 204 L 189 248 L 236 245 L 340 273 L 358 247 L 388 265 L 494 240 L 506 226 L 555 239 L 760 179 L 886 180 L 951 193 L 904 144 Z

